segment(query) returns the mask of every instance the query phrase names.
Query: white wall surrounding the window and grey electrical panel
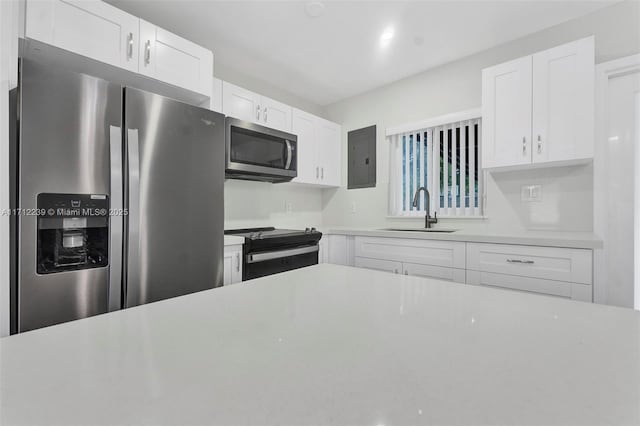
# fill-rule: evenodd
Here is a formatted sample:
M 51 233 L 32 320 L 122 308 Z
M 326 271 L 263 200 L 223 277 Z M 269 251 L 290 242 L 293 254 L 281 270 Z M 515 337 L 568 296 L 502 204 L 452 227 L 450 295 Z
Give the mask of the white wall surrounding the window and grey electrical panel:
M 386 219 L 389 148 L 387 127 L 481 105 L 481 70 L 510 59 L 595 35 L 596 62 L 640 51 L 640 3 L 626 1 L 502 46 L 397 81 L 326 107 L 327 118 L 343 126 L 343 184 L 346 186 L 346 134 L 376 124 L 377 182 L 372 189 L 327 190 L 325 225 L 421 226 L 423 219 Z M 543 185 L 543 201 L 522 203 L 522 185 Z M 485 220 L 442 220 L 455 228 L 496 232 L 546 229 L 591 231 L 593 170 L 576 166 L 489 175 Z M 355 213 L 351 213 L 355 203 Z

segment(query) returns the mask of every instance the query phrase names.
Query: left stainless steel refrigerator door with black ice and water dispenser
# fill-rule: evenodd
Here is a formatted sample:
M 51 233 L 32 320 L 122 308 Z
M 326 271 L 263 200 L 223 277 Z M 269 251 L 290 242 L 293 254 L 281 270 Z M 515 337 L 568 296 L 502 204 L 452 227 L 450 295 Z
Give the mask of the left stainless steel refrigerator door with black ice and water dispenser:
M 116 137 L 113 143 L 117 150 L 121 143 L 117 135 L 122 121 L 122 88 L 29 59 L 23 59 L 21 66 L 15 306 L 18 331 L 26 331 L 100 314 L 109 308 L 109 267 L 85 262 L 86 269 L 61 267 L 53 273 L 38 272 L 42 269 L 38 259 L 46 255 L 42 253 L 47 243 L 43 236 L 54 233 L 42 231 L 34 209 L 40 196 L 47 193 L 79 194 L 78 199 L 90 194 L 100 194 L 103 200 L 111 198 L 111 137 Z M 64 225 L 68 241 L 56 247 L 81 245 L 82 232 L 95 232 L 90 225 L 69 232 L 79 222 L 69 223 Z M 111 261 L 119 256 L 121 248 L 114 244 L 109 250 Z M 120 278 L 113 278 L 114 297 L 119 298 Z

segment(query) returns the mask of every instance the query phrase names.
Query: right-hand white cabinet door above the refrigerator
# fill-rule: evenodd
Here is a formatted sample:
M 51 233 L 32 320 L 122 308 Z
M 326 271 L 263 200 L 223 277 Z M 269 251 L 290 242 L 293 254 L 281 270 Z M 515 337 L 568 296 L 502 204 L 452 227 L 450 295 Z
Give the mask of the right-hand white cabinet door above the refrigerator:
M 140 19 L 139 72 L 196 93 L 211 92 L 213 54 Z

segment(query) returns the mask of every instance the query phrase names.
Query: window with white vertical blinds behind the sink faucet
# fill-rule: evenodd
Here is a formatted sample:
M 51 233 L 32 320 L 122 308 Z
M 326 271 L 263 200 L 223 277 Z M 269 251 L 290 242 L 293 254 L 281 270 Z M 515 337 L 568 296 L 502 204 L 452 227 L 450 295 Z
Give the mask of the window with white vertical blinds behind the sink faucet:
M 387 135 L 391 144 L 389 210 L 392 216 L 424 216 L 421 191 L 430 193 L 431 214 L 482 216 L 480 118 Z

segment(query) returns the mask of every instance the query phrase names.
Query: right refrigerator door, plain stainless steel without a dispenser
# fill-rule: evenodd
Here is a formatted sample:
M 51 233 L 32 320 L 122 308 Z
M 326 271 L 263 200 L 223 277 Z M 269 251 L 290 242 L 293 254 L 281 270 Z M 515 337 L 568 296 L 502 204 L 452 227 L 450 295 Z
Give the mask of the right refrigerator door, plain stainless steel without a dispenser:
M 126 306 L 222 285 L 224 116 L 125 89 Z

